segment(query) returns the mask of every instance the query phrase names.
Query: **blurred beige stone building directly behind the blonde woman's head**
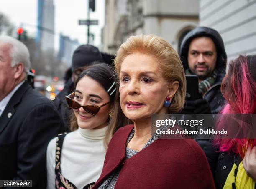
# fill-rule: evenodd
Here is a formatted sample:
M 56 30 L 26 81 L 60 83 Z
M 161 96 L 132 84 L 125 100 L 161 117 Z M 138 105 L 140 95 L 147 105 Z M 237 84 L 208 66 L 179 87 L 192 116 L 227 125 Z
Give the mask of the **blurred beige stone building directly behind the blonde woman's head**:
M 106 0 L 103 51 L 116 53 L 131 35 L 163 37 L 177 51 L 199 22 L 199 0 Z

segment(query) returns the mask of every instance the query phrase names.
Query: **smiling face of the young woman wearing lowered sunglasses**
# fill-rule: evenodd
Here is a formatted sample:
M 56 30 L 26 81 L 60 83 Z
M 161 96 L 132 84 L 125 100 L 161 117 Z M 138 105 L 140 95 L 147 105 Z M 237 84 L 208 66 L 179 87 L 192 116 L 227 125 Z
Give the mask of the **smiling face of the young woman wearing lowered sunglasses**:
M 78 83 L 75 90 L 74 100 L 81 105 L 102 105 L 110 101 L 110 97 L 105 89 L 91 77 L 85 76 Z M 105 127 L 108 122 L 108 114 L 111 105 L 107 104 L 100 108 L 100 111 L 92 116 L 82 107 L 74 109 L 77 124 L 82 129 L 100 129 Z

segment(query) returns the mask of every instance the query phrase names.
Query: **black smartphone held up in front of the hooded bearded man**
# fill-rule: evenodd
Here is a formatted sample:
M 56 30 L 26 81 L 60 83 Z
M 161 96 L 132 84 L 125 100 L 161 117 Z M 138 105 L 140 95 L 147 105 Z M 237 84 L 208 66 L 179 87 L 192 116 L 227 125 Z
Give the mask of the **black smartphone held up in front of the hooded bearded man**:
M 196 100 L 199 98 L 198 90 L 198 77 L 197 75 L 186 75 L 187 80 L 187 93 L 188 100 Z

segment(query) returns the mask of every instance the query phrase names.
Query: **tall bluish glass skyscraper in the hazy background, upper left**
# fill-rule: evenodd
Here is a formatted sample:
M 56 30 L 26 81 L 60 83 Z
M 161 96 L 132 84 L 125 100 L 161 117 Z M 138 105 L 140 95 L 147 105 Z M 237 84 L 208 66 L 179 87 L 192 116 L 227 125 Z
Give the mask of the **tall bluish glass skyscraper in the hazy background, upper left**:
M 54 49 L 54 15 L 53 0 L 38 0 L 36 42 L 41 44 L 44 52 L 53 52 Z

